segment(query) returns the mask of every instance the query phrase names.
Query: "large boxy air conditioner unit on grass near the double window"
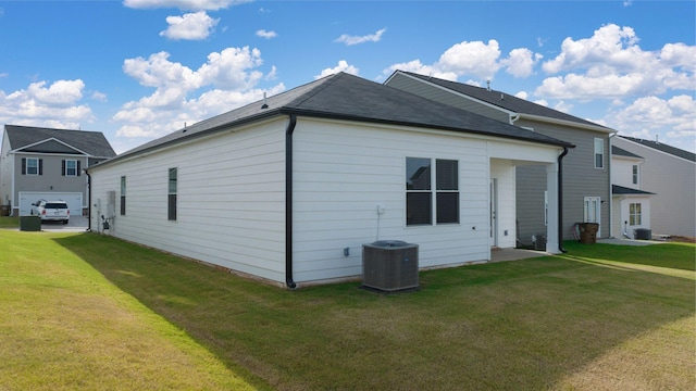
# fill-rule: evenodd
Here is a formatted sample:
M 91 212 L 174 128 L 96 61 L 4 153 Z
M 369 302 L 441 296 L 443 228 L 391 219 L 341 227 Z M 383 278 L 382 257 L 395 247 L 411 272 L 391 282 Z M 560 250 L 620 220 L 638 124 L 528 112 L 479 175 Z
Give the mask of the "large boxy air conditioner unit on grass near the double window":
M 362 286 L 383 291 L 418 288 L 418 244 L 380 240 L 362 245 Z

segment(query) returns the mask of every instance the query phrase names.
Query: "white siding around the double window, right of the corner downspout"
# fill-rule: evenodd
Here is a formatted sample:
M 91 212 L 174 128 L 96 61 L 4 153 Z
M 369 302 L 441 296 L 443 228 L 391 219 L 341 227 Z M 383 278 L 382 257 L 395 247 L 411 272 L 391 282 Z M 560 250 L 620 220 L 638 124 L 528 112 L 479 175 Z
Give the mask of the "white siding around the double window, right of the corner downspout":
M 294 138 L 296 281 L 360 276 L 375 240 L 419 244 L 421 267 L 488 257 L 486 141 L 307 119 Z M 423 155 L 459 160 L 461 224 L 407 227 L 406 157 Z

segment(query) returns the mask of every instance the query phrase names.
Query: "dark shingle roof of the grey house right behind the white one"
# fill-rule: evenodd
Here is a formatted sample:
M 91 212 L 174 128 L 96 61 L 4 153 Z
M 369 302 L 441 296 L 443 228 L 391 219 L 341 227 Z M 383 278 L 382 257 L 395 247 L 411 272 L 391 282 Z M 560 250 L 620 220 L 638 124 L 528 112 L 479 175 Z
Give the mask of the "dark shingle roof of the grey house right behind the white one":
M 554 118 L 554 119 L 562 119 L 562 121 L 574 122 L 583 125 L 591 125 L 599 128 L 606 128 L 607 131 L 613 131 L 610 128 L 607 128 L 599 124 L 595 124 L 591 121 L 579 118 L 576 116 L 566 114 L 558 110 L 554 110 L 534 102 L 530 102 L 529 100 L 525 100 L 525 99 L 517 98 L 514 96 L 508 94 L 502 91 L 496 91 L 494 89 L 475 87 L 475 86 L 471 86 L 462 83 L 439 79 L 436 77 L 431 77 L 425 75 L 419 75 L 412 72 L 403 72 L 403 71 L 399 71 L 399 72 L 413 77 L 418 77 L 422 80 L 469 96 L 471 98 L 477 99 L 480 101 L 486 102 L 488 104 L 493 104 L 495 106 L 505 109 L 507 111 L 510 111 L 517 114 L 531 114 L 531 115 L 544 116 L 544 117 Z

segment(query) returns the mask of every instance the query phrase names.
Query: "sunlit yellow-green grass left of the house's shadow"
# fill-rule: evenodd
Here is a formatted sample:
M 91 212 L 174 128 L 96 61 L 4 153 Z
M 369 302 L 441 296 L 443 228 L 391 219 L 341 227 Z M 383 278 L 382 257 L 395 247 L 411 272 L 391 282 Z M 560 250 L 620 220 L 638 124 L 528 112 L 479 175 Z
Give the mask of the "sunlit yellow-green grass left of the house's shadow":
M 0 231 L 0 389 L 257 388 L 52 240 L 66 236 Z

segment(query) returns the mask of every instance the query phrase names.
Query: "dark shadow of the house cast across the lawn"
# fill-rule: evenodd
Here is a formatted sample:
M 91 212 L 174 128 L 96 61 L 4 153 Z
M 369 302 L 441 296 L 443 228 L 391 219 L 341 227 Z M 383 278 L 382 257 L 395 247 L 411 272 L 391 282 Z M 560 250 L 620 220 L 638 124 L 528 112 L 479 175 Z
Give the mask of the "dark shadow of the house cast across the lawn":
M 418 292 L 381 295 L 359 283 L 286 291 L 91 234 L 55 240 L 231 368 L 246 368 L 250 382 L 258 376 L 276 389 L 558 388 L 695 310 L 693 278 L 579 262 L 600 258 L 599 247 L 423 272 Z M 655 262 L 655 254 L 607 251 Z M 693 270 L 682 265 L 687 253 L 660 267 Z

